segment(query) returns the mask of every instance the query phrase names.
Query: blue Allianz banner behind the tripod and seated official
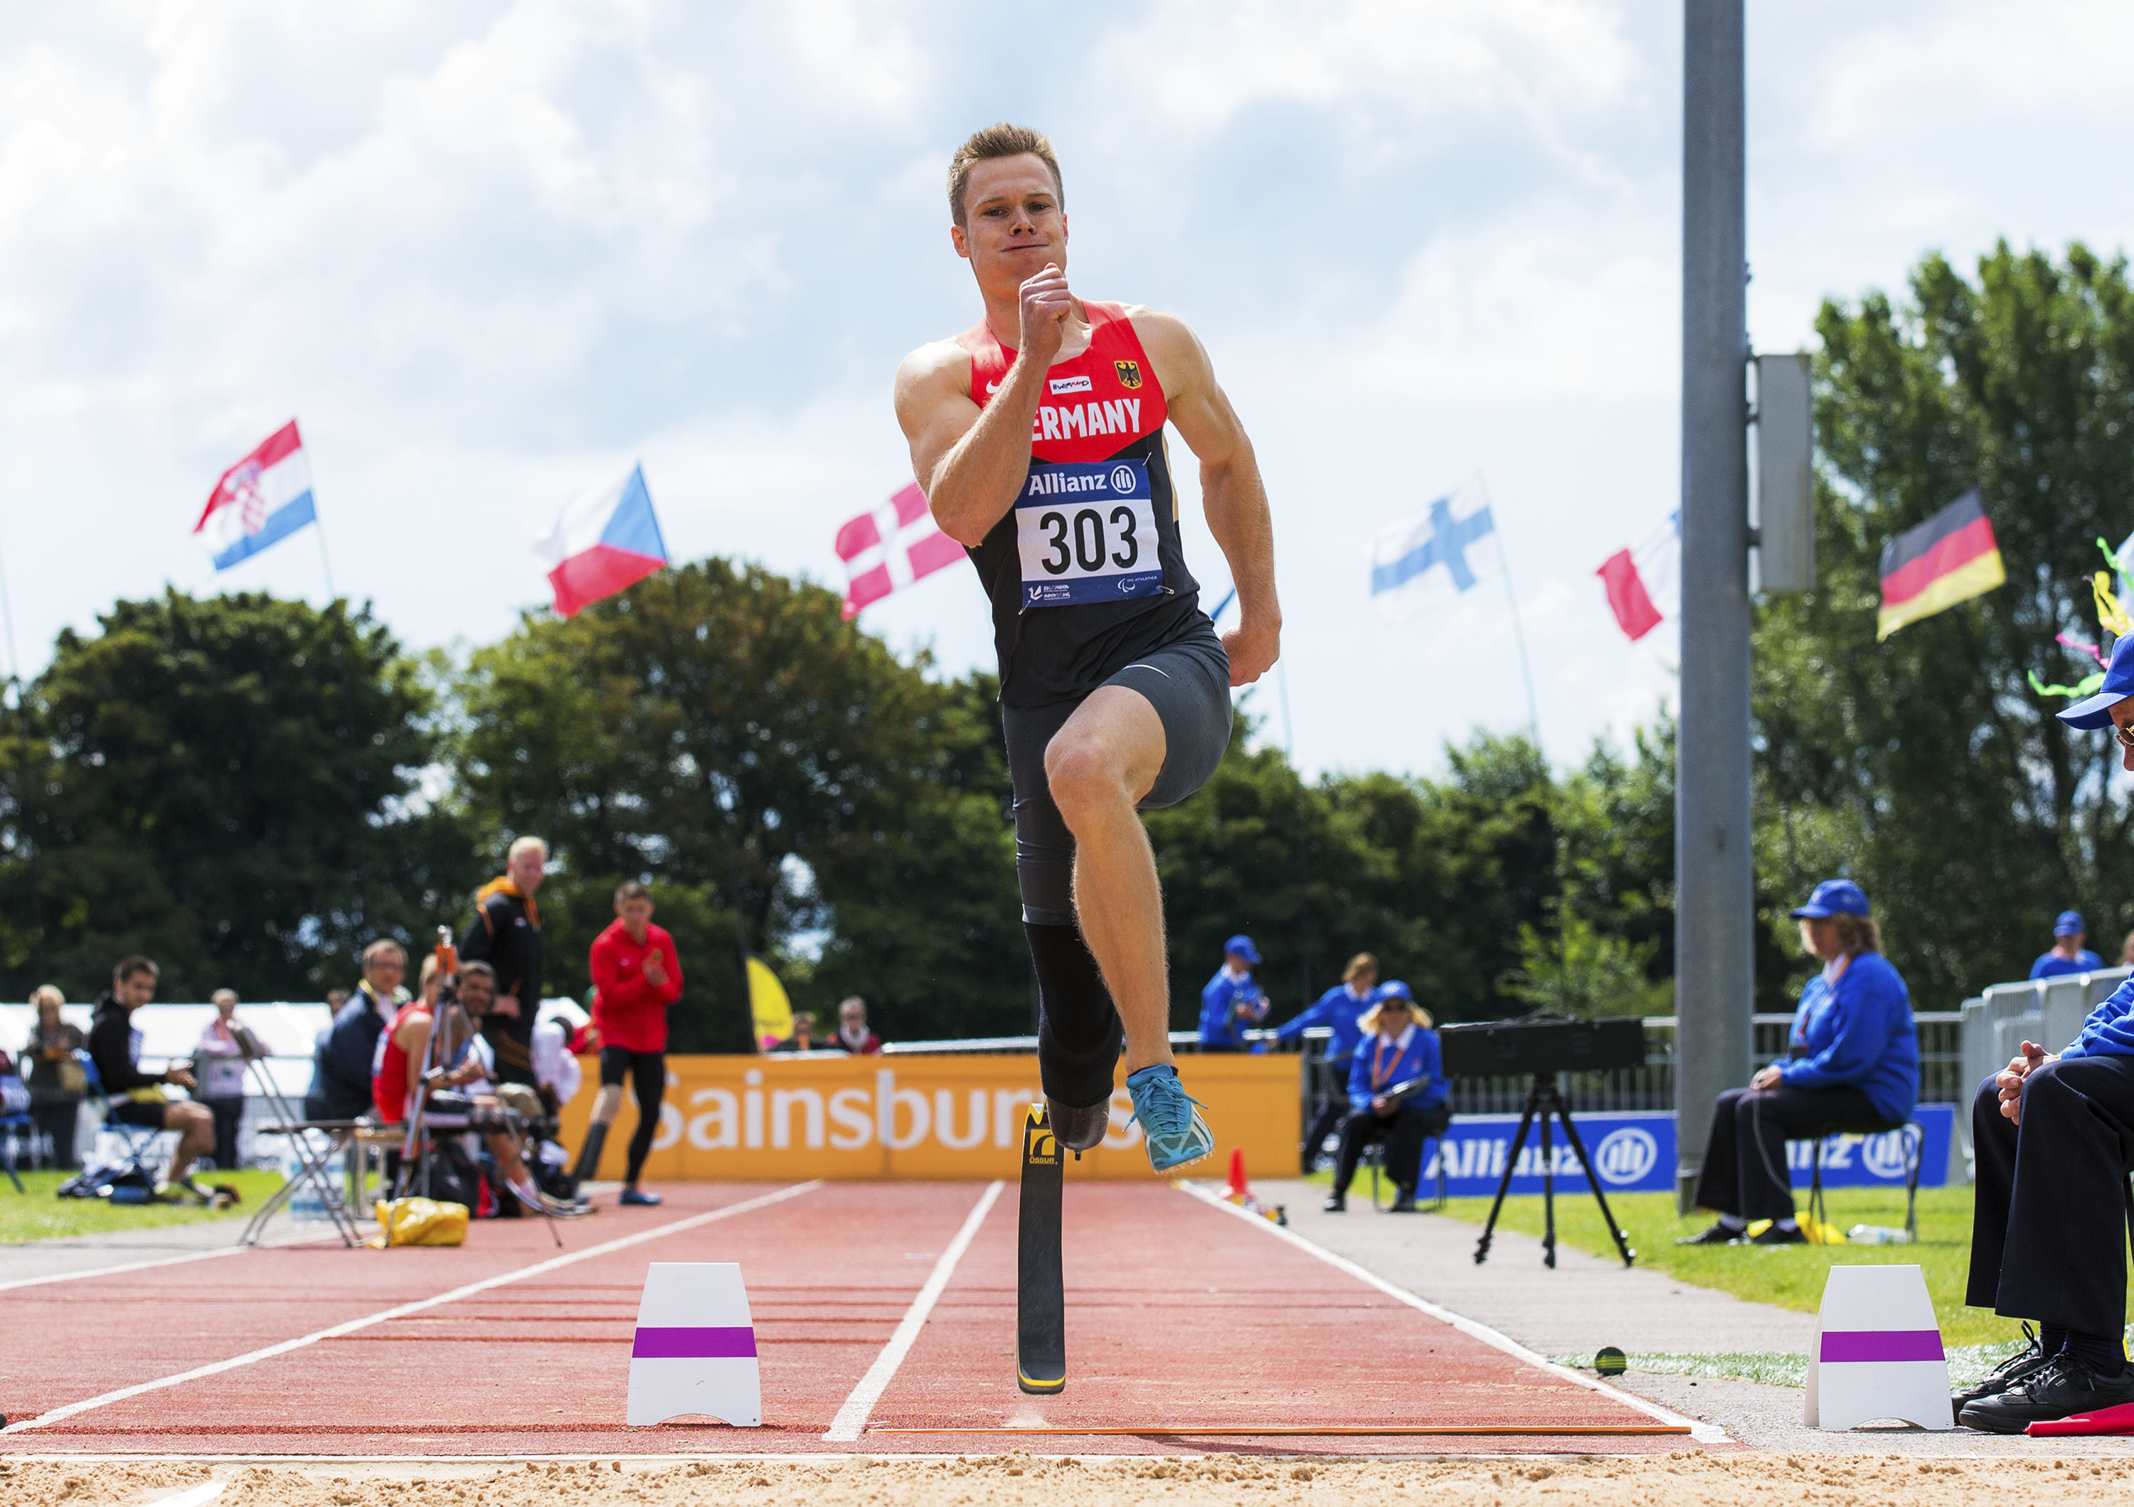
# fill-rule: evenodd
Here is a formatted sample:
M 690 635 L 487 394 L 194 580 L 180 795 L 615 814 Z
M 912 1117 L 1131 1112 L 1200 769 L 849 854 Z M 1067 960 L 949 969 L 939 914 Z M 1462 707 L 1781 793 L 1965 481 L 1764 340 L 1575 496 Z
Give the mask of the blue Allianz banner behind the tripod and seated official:
M 1665 1114 L 1573 1114 L 1579 1140 L 1600 1170 L 1603 1193 L 1673 1193 L 1675 1191 L 1675 1116 Z M 1957 1129 L 1953 1104 L 1921 1104 L 1912 1125 L 1925 1136 L 1921 1155 L 1921 1187 L 1948 1183 L 1948 1140 Z M 1462 1114 L 1453 1119 L 1445 1142 L 1432 1142 L 1423 1163 L 1423 1187 L 1436 1185 L 1438 1159 L 1445 1161 L 1445 1191 L 1453 1197 L 1487 1197 L 1504 1176 L 1511 1140 L 1519 1131 L 1517 1114 Z M 1586 1168 L 1564 1144 L 1562 1125 L 1551 1127 L 1549 1161 L 1556 1168 L 1556 1189 L 1583 1189 Z M 1906 1138 L 1901 1131 L 1882 1136 L 1829 1136 L 1822 1142 L 1822 1187 L 1904 1187 Z M 1786 1163 L 1793 1187 L 1807 1187 L 1814 1142 L 1786 1142 Z M 1513 1193 L 1541 1191 L 1541 1127 L 1526 1136 L 1519 1165 L 1511 1176 Z

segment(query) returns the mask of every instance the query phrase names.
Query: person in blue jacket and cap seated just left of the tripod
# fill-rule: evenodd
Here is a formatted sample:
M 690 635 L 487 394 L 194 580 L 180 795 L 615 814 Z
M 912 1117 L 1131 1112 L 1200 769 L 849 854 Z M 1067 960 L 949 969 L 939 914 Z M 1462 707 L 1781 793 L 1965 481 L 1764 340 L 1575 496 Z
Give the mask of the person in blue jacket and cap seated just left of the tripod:
M 1364 1159 L 1364 1146 L 1383 1140 L 1385 1170 L 1400 1189 L 1391 1212 L 1413 1215 L 1423 1142 L 1443 1136 L 1453 1121 L 1438 1033 L 1430 1029 L 1430 1012 L 1398 980 L 1379 990 L 1379 1003 L 1364 1012 L 1361 1027 L 1364 1040 L 1349 1065 L 1349 1101 L 1355 1108 L 1340 1123 L 1340 1161 L 1325 1210 L 1340 1215 L 1349 1208 L 1355 1163 Z M 1389 1089 L 1411 1082 L 1417 1084 L 1413 1093 L 1389 1097 Z

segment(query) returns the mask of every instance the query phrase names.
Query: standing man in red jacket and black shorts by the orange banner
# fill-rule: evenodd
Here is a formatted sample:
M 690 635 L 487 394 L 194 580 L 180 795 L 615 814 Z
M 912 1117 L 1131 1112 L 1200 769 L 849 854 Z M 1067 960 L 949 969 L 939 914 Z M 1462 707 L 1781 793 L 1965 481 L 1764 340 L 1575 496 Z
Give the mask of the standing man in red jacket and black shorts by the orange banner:
M 615 922 L 593 937 L 593 1029 L 600 1033 L 600 1097 L 578 1151 L 578 1180 L 593 1176 L 608 1125 L 623 1108 L 623 1080 L 638 1097 L 638 1129 L 630 1136 L 630 1170 L 621 1204 L 657 1204 L 638 1187 L 644 1155 L 659 1131 L 666 1097 L 666 1010 L 681 999 L 681 958 L 674 937 L 653 926 L 653 897 L 636 879 L 615 890 Z

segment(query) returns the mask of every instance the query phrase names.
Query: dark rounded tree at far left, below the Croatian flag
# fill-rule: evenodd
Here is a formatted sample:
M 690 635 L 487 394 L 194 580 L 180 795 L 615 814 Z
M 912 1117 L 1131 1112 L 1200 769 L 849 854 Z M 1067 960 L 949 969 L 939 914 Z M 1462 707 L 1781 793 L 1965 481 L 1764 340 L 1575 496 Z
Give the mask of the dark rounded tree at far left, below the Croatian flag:
M 98 621 L 0 743 L 6 988 L 79 999 L 147 952 L 164 999 L 316 997 L 465 888 L 457 818 L 420 800 L 429 692 L 367 610 L 169 591 Z

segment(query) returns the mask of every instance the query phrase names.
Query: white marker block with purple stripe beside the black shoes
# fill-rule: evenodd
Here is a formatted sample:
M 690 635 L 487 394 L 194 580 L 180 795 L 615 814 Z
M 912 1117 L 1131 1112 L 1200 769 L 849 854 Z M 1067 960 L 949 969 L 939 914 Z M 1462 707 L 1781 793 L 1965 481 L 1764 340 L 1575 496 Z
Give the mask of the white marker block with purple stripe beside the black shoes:
M 1927 1276 L 1916 1266 L 1833 1266 L 1807 1355 L 1801 1422 L 1835 1430 L 1876 1417 L 1955 1428 Z

